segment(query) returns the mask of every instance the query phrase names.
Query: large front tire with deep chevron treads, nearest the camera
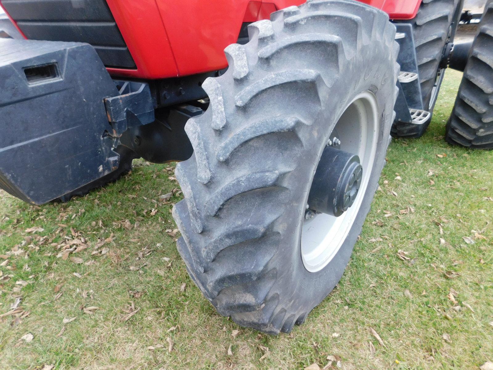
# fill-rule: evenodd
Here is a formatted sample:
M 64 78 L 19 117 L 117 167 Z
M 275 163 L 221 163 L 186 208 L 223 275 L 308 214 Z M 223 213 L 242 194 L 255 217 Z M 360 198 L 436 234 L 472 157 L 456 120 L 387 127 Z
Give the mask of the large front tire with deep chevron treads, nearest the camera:
M 248 27 L 225 49 L 228 71 L 203 87 L 210 108 L 185 130 L 185 199 L 173 209 L 188 273 L 223 316 L 288 333 L 339 282 L 378 186 L 399 65 L 387 14 L 352 0 L 309 1 Z M 301 259 L 311 179 L 337 119 L 362 91 L 378 101 L 378 149 L 360 212 L 338 254 L 316 273 Z

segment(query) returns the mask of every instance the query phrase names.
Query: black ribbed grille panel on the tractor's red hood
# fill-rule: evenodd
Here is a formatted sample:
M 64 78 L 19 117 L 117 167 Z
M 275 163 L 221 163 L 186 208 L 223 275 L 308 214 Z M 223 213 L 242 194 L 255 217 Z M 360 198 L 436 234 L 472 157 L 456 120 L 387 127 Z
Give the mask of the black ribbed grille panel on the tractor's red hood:
M 1 0 L 29 39 L 87 42 L 106 67 L 136 68 L 106 0 Z

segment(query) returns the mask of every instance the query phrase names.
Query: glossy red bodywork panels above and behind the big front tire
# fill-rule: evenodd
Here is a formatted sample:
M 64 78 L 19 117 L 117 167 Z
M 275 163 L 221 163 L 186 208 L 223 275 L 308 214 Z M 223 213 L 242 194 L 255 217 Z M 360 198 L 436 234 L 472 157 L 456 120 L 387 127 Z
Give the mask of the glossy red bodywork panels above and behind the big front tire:
M 16 0 L 0 0 L 1 2 Z M 58 0 L 61 1 L 61 0 Z M 422 0 L 360 0 L 391 19 L 412 19 Z M 244 22 L 305 0 L 106 0 L 137 66 L 107 68 L 117 76 L 158 79 L 220 70 L 224 48 Z M 70 1 L 72 3 L 72 1 Z M 29 6 L 26 4 L 25 6 Z

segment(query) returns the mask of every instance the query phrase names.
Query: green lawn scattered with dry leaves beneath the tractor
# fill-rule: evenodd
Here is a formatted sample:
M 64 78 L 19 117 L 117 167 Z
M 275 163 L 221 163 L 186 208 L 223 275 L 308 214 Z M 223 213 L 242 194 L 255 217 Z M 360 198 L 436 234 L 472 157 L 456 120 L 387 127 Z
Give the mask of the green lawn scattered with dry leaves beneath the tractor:
M 67 204 L 33 207 L 0 192 L 0 369 L 493 361 L 493 152 L 443 140 L 460 77 L 448 71 L 422 139 L 391 144 L 341 283 L 291 334 L 239 328 L 193 285 L 175 248 L 171 203 L 181 195 L 167 165 L 139 161 Z

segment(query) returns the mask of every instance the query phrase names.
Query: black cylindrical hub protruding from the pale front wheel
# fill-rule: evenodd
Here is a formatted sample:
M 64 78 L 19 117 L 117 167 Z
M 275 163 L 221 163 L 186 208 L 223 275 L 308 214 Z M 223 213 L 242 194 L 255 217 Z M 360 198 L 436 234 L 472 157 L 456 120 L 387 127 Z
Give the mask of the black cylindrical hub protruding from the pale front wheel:
M 341 216 L 353 205 L 362 178 L 363 167 L 357 155 L 326 147 L 310 189 L 307 212 Z

